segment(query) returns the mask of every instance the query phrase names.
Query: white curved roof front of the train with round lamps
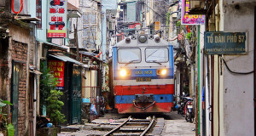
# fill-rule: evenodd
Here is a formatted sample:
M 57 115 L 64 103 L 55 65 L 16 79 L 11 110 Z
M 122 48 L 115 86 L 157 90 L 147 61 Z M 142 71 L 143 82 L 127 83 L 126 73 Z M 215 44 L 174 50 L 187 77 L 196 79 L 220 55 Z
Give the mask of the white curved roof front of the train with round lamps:
M 130 40 L 128 39 L 130 38 Z M 146 42 L 140 42 L 143 38 Z M 126 41 L 127 40 L 127 41 Z M 130 41 L 130 42 L 129 42 Z M 138 34 L 130 37 L 125 37 L 124 40 L 118 42 L 114 47 L 155 47 L 155 46 L 169 46 L 169 42 L 160 38 L 158 35 Z

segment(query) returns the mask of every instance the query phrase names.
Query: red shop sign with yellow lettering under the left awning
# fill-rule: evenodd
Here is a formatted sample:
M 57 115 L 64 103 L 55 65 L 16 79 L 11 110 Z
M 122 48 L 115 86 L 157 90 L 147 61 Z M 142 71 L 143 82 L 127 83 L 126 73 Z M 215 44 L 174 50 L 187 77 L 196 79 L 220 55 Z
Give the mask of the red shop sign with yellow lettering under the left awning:
M 65 62 L 61 60 L 49 60 L 49 71 L 53 73 L 54 77 L 58 78 L 56 89 L 64 88 L 64 66 Z

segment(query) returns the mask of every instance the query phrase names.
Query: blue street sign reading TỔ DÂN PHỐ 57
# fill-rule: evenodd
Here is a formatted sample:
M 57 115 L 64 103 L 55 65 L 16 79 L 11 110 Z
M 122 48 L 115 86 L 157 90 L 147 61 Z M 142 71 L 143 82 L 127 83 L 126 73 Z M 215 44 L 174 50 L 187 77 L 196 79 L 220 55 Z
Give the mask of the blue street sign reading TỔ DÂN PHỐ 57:
M 205 32 L 206 54 L 247 54 L 247 32 Z

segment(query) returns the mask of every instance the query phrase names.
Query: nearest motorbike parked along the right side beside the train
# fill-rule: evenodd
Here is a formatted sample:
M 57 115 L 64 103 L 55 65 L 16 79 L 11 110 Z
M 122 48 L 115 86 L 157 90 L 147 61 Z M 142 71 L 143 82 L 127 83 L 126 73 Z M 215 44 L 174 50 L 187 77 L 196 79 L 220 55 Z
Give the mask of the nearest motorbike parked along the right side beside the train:
M 193 108 L 193 99 L 187 98 L 188 101 L 186 102 L 186 105 L 184 107 L 184 113 L 185 113 L 185 120 L 187 122 L 194 122 L 194 108 Z

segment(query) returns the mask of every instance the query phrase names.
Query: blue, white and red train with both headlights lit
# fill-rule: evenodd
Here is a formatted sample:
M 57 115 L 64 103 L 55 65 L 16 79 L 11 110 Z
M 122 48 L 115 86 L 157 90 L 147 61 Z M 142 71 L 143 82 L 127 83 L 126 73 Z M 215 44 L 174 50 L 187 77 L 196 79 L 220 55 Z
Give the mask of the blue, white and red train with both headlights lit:
M 137 34 L 113 46 L 113 97 L 119 114 L 172 111 L 173 46 L 158 35 Z

